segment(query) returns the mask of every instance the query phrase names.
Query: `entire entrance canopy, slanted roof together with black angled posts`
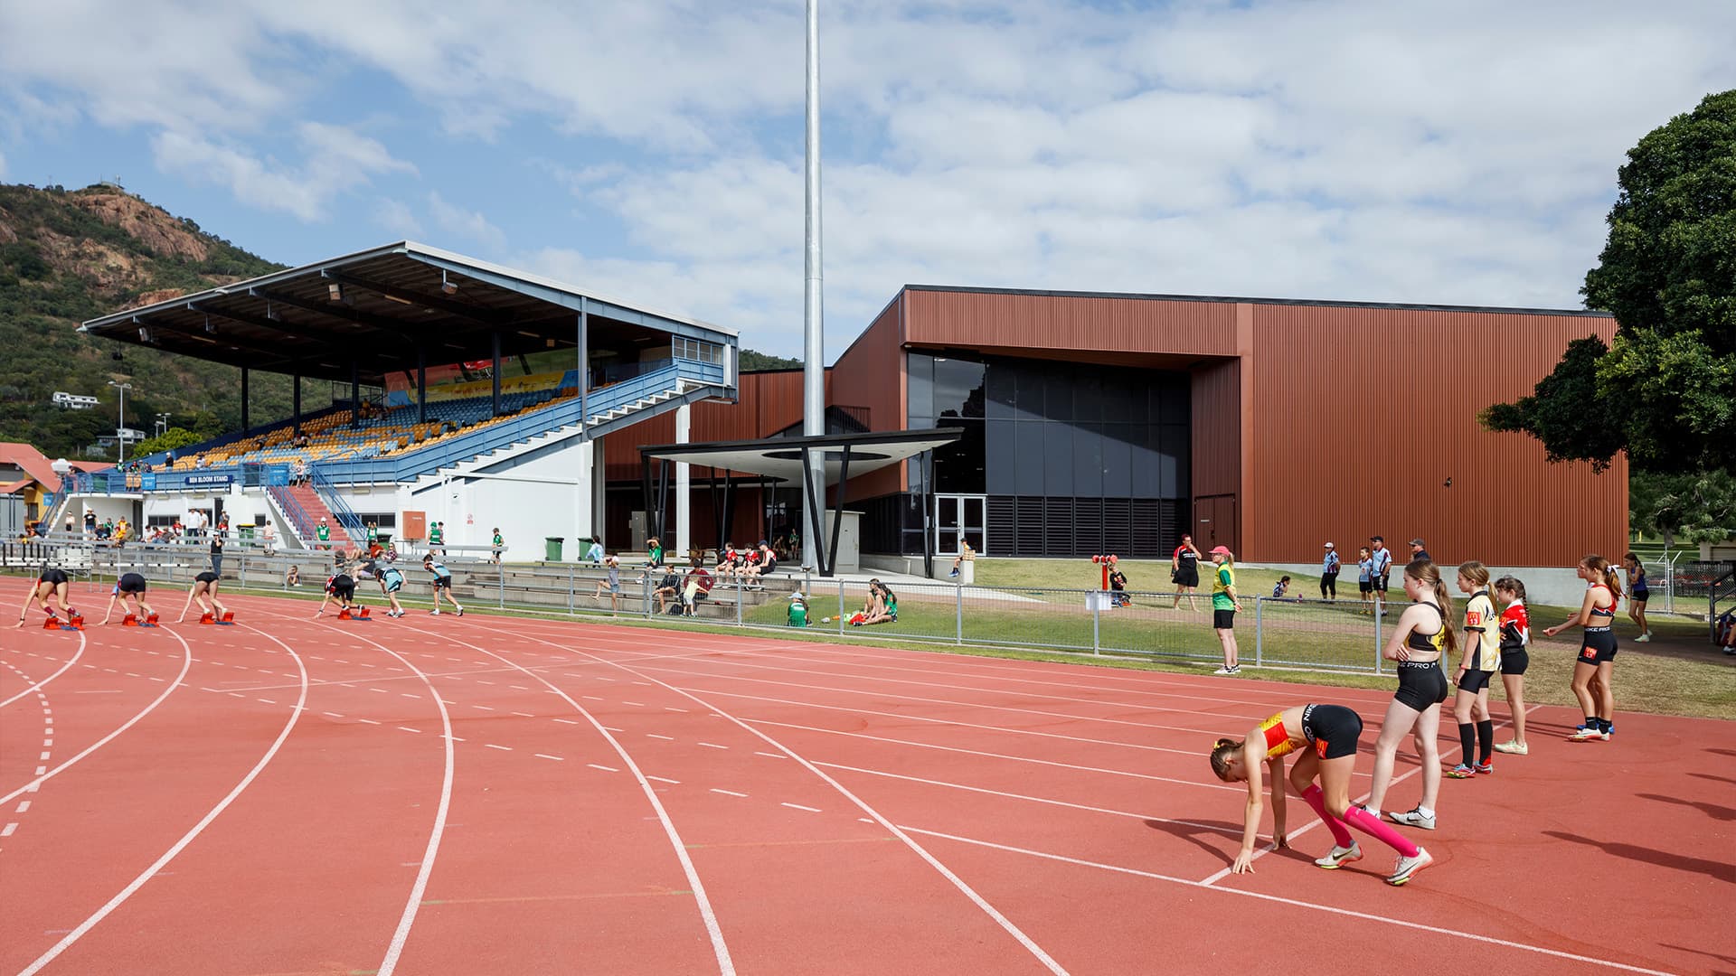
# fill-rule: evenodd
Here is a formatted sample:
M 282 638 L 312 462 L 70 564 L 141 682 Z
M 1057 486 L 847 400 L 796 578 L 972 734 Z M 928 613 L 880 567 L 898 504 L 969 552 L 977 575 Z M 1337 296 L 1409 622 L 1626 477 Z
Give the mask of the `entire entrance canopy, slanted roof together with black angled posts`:
M 819 505 L 807 509 L 806 531 L 812 531 L 814 552 L 819 554 L 821 577 L 830 577 L 838 561 L 838 528 L 844 524 L 844 497 L 852 474 L 880 471 L 891 464 L 946 446 L 963 436 L 962 427 L 932 427 L 927 431 L 896 431 L 885 434 L 826 434 L 819 438 L 766 438 L 760 441 L 712 441 L 708 445 L 658 445 L 639 448 L 644 458 L 646 511 L 660 523 L 668 495 L 668 467 L 672 464 L 701 464 L 713 471 L 740 471 L 779 485 L 802 485 L 812 464 L 825 458 L 826 485 L 837 486 L 833 495 L 832 538 L 821 531 Z M 651 462 L 658 462 L 653 491 Z M 930 479 L 924 478 L 924 485 Z M 713 491 L 717 479 L 712 479 Z M 724 478 L 722 498 L 713 498 L 717 537 L 727 533 L 734 481 Z M 663 535 L 661 524 L 651 524 L 653 535 Z M 927 533 L 924 533 L 927 537 Z M 930 554 L 932 557 L 932 554 Z M 934 566 L 929 566 L 932 573 Z

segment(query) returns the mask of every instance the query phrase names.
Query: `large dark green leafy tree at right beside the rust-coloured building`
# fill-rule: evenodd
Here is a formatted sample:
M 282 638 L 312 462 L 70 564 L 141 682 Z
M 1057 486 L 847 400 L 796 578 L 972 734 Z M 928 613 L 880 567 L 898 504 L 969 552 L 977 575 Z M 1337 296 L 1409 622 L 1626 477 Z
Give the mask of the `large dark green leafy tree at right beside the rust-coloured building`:
M 1533 396 L 1484 412 L 1550 460 L 1654 472 L 1736 471 L 1736 90 L 1649 132 L 1618 172 L 1587 306 L 1616 318 L 1608 351 L 1568 347 Z

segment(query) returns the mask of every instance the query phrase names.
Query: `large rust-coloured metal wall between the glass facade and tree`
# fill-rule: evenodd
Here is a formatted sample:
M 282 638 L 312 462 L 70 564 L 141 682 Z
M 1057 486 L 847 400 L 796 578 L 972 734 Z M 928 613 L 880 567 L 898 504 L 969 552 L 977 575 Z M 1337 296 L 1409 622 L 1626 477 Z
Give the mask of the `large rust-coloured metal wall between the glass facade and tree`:
M 1252 311 L 1246 559 L 1311 561 L 1335 542 L 1351 561 L 1375 533 L 1399 563 L 1411 538 L 1443 564 L 1569 566 L 1625 549 L 1625 455 L 1602 474 L 1549 464 L 1535 439 L 1477 422 L 1486 406 L 1529 394 L 1569 340 L 1609 340 L 1613 318 L 1262 302 Z M 1212 464 L 1201 448 L 1196 478 Z

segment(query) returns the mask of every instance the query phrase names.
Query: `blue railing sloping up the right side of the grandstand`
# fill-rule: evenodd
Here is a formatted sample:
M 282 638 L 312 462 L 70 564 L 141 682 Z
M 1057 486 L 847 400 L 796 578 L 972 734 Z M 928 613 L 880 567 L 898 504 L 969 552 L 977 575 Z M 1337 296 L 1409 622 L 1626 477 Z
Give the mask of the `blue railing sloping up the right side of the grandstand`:
M 675 382 L 681 379 L 722 386 L 724 366 L 696 359 L 674 359 L 663 368 L 587 394 L 583 408 L 590 413 L 590 422 L 597 422 L 599 417 L 611 410 L 630 406 L 639 399 L 649 399 L 658 392 L 675 389 Z M 384 458 L 333 460 L 314 467 L 326 481 L 340 485 L 410 481 L 420 474 L 439 471 L 460 460 L 469 460 L 529 439 L 543 431 L 578 424 L 580 420 L 583 420 L 580 401 L 573 398 L 470 434 L 446 438 L 411 453 Z

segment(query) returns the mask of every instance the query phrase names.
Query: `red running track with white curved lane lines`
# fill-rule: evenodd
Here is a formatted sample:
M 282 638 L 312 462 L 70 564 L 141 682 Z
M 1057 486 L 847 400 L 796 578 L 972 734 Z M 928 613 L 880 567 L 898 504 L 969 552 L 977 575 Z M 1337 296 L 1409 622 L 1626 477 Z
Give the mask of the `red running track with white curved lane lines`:
M 1538 709 L 1410 886 L 1295 801 L 1234 877 L 1205 743 L 1387 693 L 233 603 L 0 630 L 0 973 L 1736 969 L 1733 722 Z

